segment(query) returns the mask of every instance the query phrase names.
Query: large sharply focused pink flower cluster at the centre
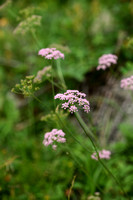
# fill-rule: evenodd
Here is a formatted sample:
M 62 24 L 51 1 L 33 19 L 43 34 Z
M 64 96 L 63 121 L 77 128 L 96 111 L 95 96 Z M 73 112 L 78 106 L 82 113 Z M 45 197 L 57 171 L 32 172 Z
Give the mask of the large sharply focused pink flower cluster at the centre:
M 77 105 L 82 106 L 84 112 L 88 113 L 90 111 L 90 103 L 84 99 L 85 96 L 86 94 L 81 93 L 78 90 L 67 90 L 64 94 L 59 93 L 55 95 L 54 99 L 66 101 L 62 104 L 62 108 L 68 108 L 71 114 L 78 111 Z

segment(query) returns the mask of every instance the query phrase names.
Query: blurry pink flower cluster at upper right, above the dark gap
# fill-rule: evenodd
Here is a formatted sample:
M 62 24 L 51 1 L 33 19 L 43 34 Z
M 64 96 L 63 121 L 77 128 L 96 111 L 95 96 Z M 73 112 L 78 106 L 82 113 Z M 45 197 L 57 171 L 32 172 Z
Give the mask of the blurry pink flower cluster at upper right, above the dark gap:
M 110 67 L 111 64 L 117 64 L 117 59 L 118 57 L 116 55 L 104 54 L 98 60 L 99 65 L 97 67 L 97 70 L 99 69 L 105 70 L 107 67 Z

